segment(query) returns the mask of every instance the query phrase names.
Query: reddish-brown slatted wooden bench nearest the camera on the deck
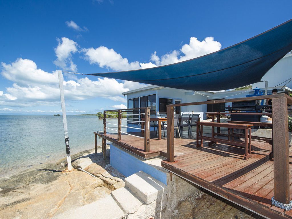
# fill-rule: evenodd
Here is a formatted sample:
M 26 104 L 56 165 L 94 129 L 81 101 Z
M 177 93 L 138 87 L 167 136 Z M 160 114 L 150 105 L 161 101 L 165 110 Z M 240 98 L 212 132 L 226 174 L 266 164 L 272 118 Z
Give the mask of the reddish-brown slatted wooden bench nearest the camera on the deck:
M 234 129 L 243 129 L 245 131 L 245 142 L 238 142 L 234 141 L 233 138 L 230 140 L 230 136 L 233 136 L 230 134 L 230 131 L 228 131 L 228 140 L 221 139 L 221 138 L 215 138 L 214 132 L 212 132 L 212 137 L 203 136 L 203 126 L 211 126 L 211 127 L 223 127 Z M 203 140 L 209 140 L 212 144 L 223 143 L 223 144 L 230 144 L 235 146 L 240 146 L 245 148 L 245 155 L 244 159 L 247 160 L 248 158 L 251 158 L 251 127 L 252 124 L 229 124 L 229 123 L 218 123 L 218 122 L 197 122 L 197 147 L 203 147 Z M 199 144 L 199 140 L 201 140 Z

